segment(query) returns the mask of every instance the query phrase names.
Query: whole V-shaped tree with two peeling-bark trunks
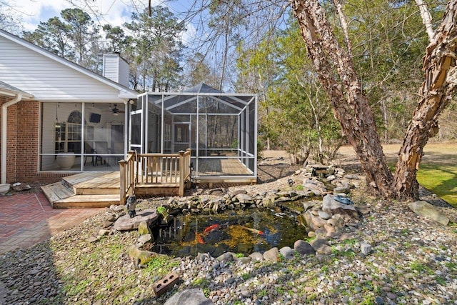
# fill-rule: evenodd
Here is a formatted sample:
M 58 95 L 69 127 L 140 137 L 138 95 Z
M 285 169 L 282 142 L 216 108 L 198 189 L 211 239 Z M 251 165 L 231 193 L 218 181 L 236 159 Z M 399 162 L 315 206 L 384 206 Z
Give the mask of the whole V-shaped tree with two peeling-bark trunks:
M 417 198 L 416 171 L 423 146 L 438 131 L 438 116 L 449 103 L 455 86 L 457 0 L 448 1 L 443 21 L 426 49 L 422 97 L 398 154 L 395 176 L 386 164 L 375 118 L 361 89 L 350 49 L 343 49 L 338 44 L 318 0 L 290 1 L 308 56 L 327 91 L 343 133 L 361 161 L 373 194 L 387 198 Z

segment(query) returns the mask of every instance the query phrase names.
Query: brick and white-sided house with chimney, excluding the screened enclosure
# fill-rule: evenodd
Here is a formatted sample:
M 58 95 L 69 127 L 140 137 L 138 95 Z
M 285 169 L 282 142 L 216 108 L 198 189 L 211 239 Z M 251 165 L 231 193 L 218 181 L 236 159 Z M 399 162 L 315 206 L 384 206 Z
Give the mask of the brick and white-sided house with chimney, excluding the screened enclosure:
M 0 30 L 1 183 L 119 170 L 127 151 L 129 66 L 104 76 Z

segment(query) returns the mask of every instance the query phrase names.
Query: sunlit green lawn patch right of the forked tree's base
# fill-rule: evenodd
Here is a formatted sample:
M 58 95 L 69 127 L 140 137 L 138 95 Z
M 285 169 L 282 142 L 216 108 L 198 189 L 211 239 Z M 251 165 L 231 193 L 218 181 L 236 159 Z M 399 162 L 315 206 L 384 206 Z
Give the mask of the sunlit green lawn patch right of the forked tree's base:
M 457 165 L 421 164 L 417 181 L 457 208 Z

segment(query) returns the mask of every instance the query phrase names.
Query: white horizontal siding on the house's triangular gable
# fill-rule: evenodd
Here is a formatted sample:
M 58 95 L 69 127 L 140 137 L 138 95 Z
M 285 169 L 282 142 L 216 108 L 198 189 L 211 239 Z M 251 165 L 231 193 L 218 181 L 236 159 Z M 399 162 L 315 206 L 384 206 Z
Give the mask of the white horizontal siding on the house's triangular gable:
M 119 89 L 0 36 L 0 80 L 41 101 L 120 102 Z

